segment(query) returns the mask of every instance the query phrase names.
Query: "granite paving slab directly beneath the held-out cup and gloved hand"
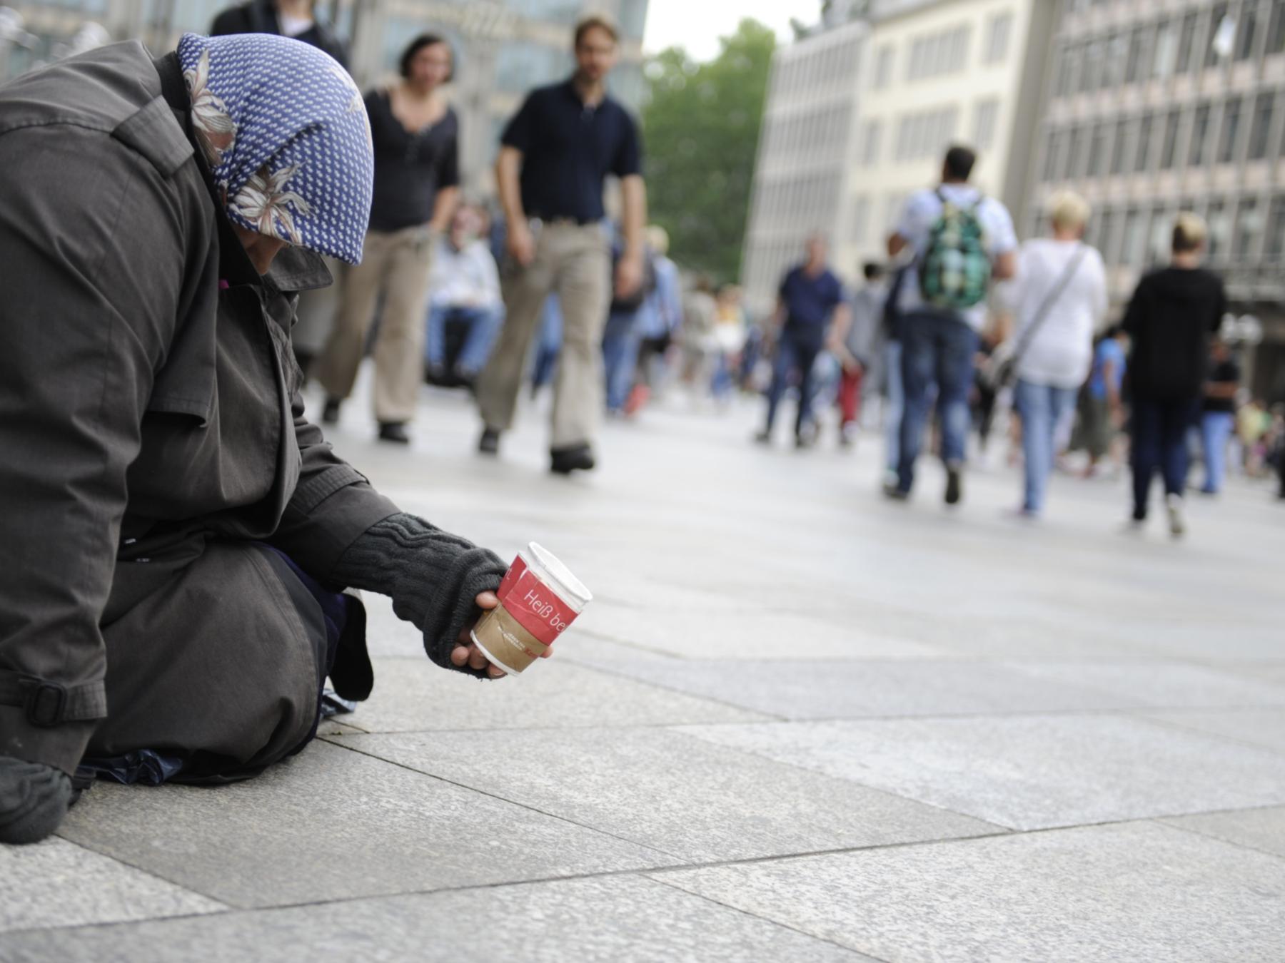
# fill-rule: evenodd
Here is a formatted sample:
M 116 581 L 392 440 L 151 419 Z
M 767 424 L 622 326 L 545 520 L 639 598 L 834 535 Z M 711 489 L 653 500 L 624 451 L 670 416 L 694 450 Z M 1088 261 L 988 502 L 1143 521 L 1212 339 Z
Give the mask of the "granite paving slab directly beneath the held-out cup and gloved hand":
M 664 725 L 761 722 L 767 716 L 558 656 L 493 682 L 446 672 L 428 659 L 377 659 L 375 690 L 344 723 L 366 732 L 513 729 L 529 725 Z

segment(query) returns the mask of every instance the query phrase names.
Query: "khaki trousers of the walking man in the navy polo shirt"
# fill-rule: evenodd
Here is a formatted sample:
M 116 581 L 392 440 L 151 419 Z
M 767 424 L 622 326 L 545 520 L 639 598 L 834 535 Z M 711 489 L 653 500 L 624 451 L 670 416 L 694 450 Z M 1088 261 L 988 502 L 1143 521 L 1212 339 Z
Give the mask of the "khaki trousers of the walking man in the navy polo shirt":
M 487 426 L 508 430 L 518 403 L 531 339 L 545 298 L 558 293 L 563 344 L 554 383 L 551 448 L 589 444 L 603 410 L 603 325 L 612 298 L 612 253 L 596 225 L 546 223 L 527 267 L 506 259 L 501 279 L 505 321 L 478 379 Z

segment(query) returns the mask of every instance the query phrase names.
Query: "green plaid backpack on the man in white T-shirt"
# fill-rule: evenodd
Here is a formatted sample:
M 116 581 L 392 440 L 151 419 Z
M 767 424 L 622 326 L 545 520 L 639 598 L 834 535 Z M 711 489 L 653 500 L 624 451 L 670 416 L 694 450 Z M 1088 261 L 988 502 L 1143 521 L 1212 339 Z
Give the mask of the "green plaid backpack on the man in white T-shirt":
M 942 191 L 937 196 L 942 213 L 928 231 L 919 262 L 919 291 L 926 304 L 937 308 L 971 308 L 986 299 L 991 284 L 991 256 L 977 216 L 984 198 L 971 207 L 959 207 Z

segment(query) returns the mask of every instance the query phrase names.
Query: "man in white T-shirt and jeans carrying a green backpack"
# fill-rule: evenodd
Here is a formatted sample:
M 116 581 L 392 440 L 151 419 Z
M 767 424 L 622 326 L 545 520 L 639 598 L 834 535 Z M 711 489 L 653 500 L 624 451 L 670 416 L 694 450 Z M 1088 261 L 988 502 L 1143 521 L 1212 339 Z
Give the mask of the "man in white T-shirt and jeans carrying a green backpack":
M 910 497 L 915 482 L 933 384 L 946 503 L 956 505 L 962 497 L 978 333 L 986 324 L 991 284 L 1016 273 L 1013 218 L 1004 204 L 968 182 L 975 162 L 969 148 L 946 152 L 941 185 L 910 196 L 888 239 L 889 257 L 907 265 L 896 304 L 906 403 L 897 480 L 884 485 L 884 493 L 897 501 Z

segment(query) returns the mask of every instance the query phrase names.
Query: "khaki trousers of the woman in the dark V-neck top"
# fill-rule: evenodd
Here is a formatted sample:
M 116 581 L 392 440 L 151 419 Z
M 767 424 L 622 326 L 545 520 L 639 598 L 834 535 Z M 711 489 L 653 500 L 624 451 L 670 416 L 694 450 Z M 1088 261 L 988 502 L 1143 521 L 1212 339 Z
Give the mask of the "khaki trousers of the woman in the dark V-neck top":
M 316 377 L 330 398 L 347 398 L 357 379 L 375 303 L 384 295 L 375 339 L 375 417 L 410 421 L 424 379 L 424 311 L 437 241 L 428 227 L 369 231 L 361 263 L 339 279 L 339 309 L 317 360 Z

